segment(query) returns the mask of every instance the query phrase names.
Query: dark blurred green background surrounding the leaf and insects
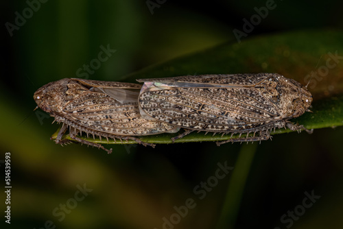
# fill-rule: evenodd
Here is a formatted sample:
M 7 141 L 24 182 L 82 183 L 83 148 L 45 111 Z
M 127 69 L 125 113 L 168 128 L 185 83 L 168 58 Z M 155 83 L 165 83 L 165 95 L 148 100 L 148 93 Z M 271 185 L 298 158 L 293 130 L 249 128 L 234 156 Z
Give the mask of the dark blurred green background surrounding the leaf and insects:
M 169 219 L 174 206 L 193 198 L 197 206 L 175 228 L 215 228 L 228 183 L 235 183 L 229 174 L 203 200 L 193 188 L 213 176 L 218 162 L 235 167 L 237 158 L 244 158 L 241 145 L 111 145 L 110 155 L 80 144 L 61 147 L 49 140 L 58 125 L 51 125 L 53 119 L 43 112 L 32 112 L 32 96 L 48 82 L 78 77 L 76 71 L 97 58 L 101 45 L 117 51 L 89 79 L 116 81 L 152 64 L 236 43 L 233 29 L 241 30 L 242 20 L 266 2 L 167 0 L 152 14 L 145 1 L 51 0 L 40 3 L 10 36 L 5 23 L 14 24 L 15 12 L 23 15 L 29 6 L 26 1 L 2 1 L 0 160 L 11 153 L 12 191 L 11 224 L 2 215 L 1 224 L 44 228 L 51 220 L 56 228 L 163 228 L 163 217 Z M 242 42 L 257 35 L 343 25 L 343 3 L 338 1 L 274 4 Z M 314 191 L 320 199 L 294 219 L 292 228 L 340 228 L 342 134 L 342 128 L 327 128 L 311 135 L 276 135 L 257 145 L 248 177 L 241 181 L 246 182 L 244 191 L 236 193 L 241 202 L 228 217 L 230 227 L 286 228 L 290 224 L 281 216 L 302 205 L 305 192 Z M 4 187 L 3 167 L 1 163 Z M 84 184 L 93 191 L 59 221 L 54 208 L 66 204 Z M 0 197 L 3 213 L 3 191 Z

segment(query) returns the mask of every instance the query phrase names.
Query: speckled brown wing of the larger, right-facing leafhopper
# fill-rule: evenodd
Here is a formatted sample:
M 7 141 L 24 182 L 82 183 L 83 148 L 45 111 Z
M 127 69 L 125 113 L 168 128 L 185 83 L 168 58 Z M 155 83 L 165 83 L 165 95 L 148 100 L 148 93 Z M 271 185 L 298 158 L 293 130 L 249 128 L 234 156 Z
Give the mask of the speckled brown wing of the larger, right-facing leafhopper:
M 146 83 L 139 97 L 141 112 L 171 125 L 210 132 L 248 131 L 279 121 L 276 106 L 256 88 L 269 82 L 268 74 L 261 75 L 259 80 L 244 77 L 243 81 L 250 82 L 250 86 L 228 84 L 232 75 L 215 77 L 194 77 L 190 80 L 193 86 L 188 82 L 186 87 L 182 87 L 180 77 L 171 81 L 168 78 L 169 82 L 157 80 L 157 84 L 155 80 L 143 80 Z M 209 85 L 199 86 L 204 83 Z

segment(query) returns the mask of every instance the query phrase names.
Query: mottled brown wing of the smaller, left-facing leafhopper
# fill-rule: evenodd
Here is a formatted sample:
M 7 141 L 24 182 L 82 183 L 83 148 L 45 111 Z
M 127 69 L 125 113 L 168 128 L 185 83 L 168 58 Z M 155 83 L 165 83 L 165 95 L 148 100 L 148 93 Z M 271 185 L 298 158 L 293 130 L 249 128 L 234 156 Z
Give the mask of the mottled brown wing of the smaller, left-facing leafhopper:
M 78 79 L 78 81 L 80 82 L 81 80 Z M 87 80 L 88 86 L 102 88 L 101 85 L 89 84 L 89 81 Z M 94 80 L 93 82 L 97 81 Z M 111 83 L 116 84 L 113 86 L 120 87 L 118 89 L 121 91 L 130 90 L 130 93 L 136 88 L 136 102 L 121 103 L 113 95 L 108 95 L 104 91 L 92 91 L 90 89 L 85 90 L 78 97 L 68 101 L 62 108 L 64 115 L 69 117 L 70 121 L 84 128 L 121 136 L 140 136 L 177 131 L 172 125 L 161 123 L 161 121 L 157 120 L 146 120 L 141 117 L 137 103 L 141 85 Z M 124 84 L 123 86 L 128 89 L 123 89 L 123 86 L 120 84 Z M 108 84 L 106 84 L 106 87 L 108 88 Z M 110 88 L 113 91 L 115 89 Z

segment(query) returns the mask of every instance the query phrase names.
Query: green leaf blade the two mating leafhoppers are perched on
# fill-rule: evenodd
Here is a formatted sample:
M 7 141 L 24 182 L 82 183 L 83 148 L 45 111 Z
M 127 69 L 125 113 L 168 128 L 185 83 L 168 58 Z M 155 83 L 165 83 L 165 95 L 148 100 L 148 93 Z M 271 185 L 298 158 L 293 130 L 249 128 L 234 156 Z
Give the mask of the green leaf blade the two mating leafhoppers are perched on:
M 123 78 L 122 82 L 136 79 L 173 77 L 178 75 L 226 73 L 279 73 L 307 84 L 314 96 L 311 110 L 294 123 L 307 129 L 333 128 L 343 125 L 343 32 L 334 30 L 302 31 L 246 38 L 241 43 L 226 43 L 192 55 L 147 67 Z M 342 55 L 342 56 L 340 56 Z M 276 130 L 281 134 L 290 130 Z M 180 131 L 181 133 L 181 131 Z M 178 134 L 158 134 L 139 137 L 147 143 L 172 143 Z M 52 136 L 55 139 L 57 132 Z M 70 139 L 69 136 L 64 136 Z M 237 137 L 237 136 L 233 136 Z M 230 134 L 193 132 L 176 143 L 224 141 Z M 84 138 L 93 143 L 121 143 L 99 138 Z M 123 141 L 123 143 L 136 143 Z

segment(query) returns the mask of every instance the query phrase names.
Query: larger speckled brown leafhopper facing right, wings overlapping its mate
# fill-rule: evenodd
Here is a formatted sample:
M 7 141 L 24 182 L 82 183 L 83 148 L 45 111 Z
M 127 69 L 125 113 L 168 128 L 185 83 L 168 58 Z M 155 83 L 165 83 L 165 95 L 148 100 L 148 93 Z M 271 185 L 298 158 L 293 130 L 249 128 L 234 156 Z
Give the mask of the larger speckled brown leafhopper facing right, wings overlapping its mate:
M 288 120 L 310 111 L 312 95 L 283 75 L 185 75 L 137 81 L 144 82 L 139 95 L 143 118 L 186 129 L 173 141 L 195 130 L 231 134 L 217 145 L 268 140 L 275 128 L 311 132 Z M 239 137 L 232 138 L 233 134 Z

